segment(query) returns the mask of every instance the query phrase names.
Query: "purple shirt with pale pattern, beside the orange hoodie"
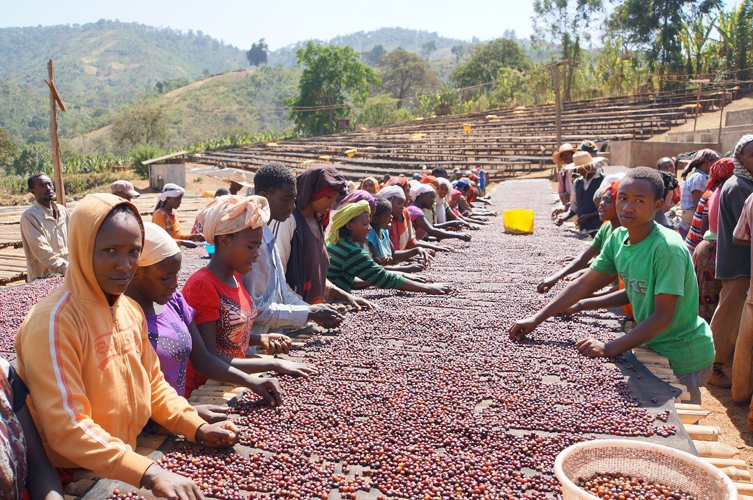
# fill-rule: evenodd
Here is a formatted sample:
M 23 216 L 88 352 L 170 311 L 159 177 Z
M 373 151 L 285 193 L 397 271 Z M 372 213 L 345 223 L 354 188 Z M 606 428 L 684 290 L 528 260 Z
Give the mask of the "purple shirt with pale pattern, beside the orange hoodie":
M 146 316 L 149 342 L 160 358 L 165 380 L 179 395 L 184 394 L 186 387 L 186 364 L 192 346 L 188 325 L 194 321 L 194 313 L 183 294 L 175 291 L 161 313 Z

